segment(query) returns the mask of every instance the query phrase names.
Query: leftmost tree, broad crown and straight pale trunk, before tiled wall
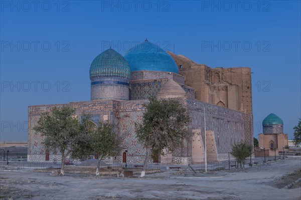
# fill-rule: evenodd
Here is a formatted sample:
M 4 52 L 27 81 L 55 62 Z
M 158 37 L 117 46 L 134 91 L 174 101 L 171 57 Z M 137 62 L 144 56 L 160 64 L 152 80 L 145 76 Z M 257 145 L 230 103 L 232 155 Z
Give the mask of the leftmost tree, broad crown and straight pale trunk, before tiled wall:
M 52 151 L 59 150 L 61 152 L 62 175 L 65 175 L 65 158 L 76 147 L 77 140 L 82 138 L 82 130 L 85 129 L 86 124 L 86 122 L 80 123 L 74 109 L 69 106 L 62 106 L 53 107 L 50 112 L 43 112 L 38 124 L 33 128 L 44 137 L 42 144 Z

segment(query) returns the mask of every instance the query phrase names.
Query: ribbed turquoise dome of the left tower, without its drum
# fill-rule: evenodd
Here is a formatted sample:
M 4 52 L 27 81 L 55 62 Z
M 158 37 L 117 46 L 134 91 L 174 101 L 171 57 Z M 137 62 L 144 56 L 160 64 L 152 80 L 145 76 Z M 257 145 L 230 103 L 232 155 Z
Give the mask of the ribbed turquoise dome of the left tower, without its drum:
M 90 79 L 94 77 L 130 78 L 127 61 L 117 51 L 109 48 L 97 55 L 90 66 Z

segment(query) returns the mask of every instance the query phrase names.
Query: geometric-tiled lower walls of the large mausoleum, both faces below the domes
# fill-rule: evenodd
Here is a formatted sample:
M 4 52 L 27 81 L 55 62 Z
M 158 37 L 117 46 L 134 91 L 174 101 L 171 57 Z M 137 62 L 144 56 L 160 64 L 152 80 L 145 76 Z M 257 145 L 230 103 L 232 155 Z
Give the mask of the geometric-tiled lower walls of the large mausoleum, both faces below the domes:
M 144 84 L 145 86 L 146 84 Z M 186 105 L 191 116 L 189 127 L 192 129 L 201 129 L 201 136 L 205 141 L 204 134 L 204 106 L 206 112 L 206 130 L 214 130 L 215 141 L 218 153 L 227 153 L 231 151 L 231 144 L 245 140 L 251 141 L 253 133 L 251 130 L 250 114 L 244 114 L 235 110 L 230 110 L 217 105 L 204 103 L 192 98 L 178 98 L 180 102 Z M 145 155 L 145 148 L 137 141 L 135 137 L 135 122 L 142 119 L 143 104 L 148 100 L 97 100 L 71 102 L 69 105 L 76 109 L 80 116 L 83 111 L 91 114 L 91 120 L 98 124 L 104 118 L 110 120 L 113 124 L 113 131 L 119 137 L 122 148 L 128 150 L 129 160 L 142 159 Z M 63 104 L 54 105 L 36 105 L 29 106 L 29 145 L 28 152 L 31 155 L 45 154 L 45 147 L 41 144 L 42 137 L 37 134 L 32 127 L 37 123 L 40 113 L 48 111 L 53 106 L 62 106 Z M 58 156 L 56 152 L 50 152 L 50 157 Z M 191 157 L 192 143 L 184 141 L 183 145 L 173 153 L 173 156 Z M 121 153 L 120 153 L 121 155 Z M 224 157 L 226 154 L 221 154 Z M 35 156 L 31 156 L 35 157 Z M 43 157 L 43 156 L 42 156 Z M 178 162 L 178 161 L 177 161 Z

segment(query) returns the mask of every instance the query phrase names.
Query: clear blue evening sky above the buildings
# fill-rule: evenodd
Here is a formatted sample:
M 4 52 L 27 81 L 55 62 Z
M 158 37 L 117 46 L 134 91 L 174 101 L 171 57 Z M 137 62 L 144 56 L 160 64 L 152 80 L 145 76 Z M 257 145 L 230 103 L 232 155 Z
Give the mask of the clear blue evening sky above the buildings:
M 90 100 L 89 67 L 145 37 L 210 67 L 251 67 L 254 135 L 300 118 L 300 1 L 1 1 L 1 140 L 26 140 L 28 106 Z M 16 85 L 13 86 L 12 85 Z

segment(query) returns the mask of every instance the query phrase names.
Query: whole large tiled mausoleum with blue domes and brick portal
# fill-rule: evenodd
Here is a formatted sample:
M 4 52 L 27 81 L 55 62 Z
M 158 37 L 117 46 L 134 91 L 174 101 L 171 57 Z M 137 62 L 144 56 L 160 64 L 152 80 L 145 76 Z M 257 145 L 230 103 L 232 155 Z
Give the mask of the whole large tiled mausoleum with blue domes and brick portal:
M 72 66 L 70 66 L 72 68 Z M 73 70 L 73 69 L 72 69 Z M 54 106 L 69 105 L 80 119 L 83 111 L 91 121 L 114 124 L 121 150 L 109 162 L 143 162 L 146 153 L 135 134 L 143 103 L 151 96 L 176 98 L 187 108 L 194 136 L 172 155 L 154 157 L 150 162 L 188 164 L 205 161 L 204 108 L 206 113 L 207 161 L 228 158 L 232 144 L 252 142 L 251 71 L 248 67 L 210 68 L 183 55 L 166 52 L 147 39 L 129 49 L 124 57 L 107 49 L 90 65 L 91 100 L 65 104 L 29 106 L 28 160 L 60 160 L 42 144 L 33 130 L 40 114 Z

